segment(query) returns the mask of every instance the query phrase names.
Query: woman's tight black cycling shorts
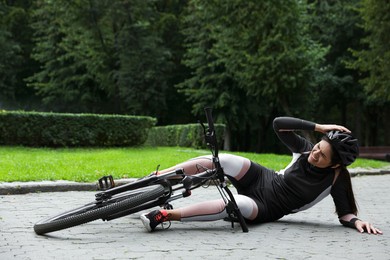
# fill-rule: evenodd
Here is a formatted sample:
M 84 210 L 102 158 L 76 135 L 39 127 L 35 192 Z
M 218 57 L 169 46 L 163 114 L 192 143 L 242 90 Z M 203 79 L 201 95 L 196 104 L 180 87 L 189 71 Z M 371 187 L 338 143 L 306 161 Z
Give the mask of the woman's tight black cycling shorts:
M 239 181 L 233 177 L 227 176 L 237 189 L 238 194 L 250 197 L 255 201 L 258 207 L 258 214 L 253 220 L 246 220 L 248 223 L 264 223 L 275 221 L 285 214 L 280 210 L 272 210 L 269 208 L 275 204 L 275 194 L 272 189 L 274 178 L 278 178 L 275 171 L 270 170 L 255 162 L 251 162 L 251 166 Z M 277 203 L 276 203 L 277 204 Z

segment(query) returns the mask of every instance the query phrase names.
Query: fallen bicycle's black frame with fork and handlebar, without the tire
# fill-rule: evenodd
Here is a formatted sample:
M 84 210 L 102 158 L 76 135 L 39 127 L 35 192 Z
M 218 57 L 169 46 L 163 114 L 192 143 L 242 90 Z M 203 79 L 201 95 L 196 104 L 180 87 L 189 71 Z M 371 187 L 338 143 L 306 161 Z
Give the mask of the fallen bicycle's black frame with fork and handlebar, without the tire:
M 148 176 L 129 184 L 125 184 L 119 187 L 114 187 L 99 192 L 95 195 L 97 203 L 99 203 L 99 201 L 111 199 L 113 196 L 116 196 L 121 193 L 126 193 L 132 190 L 136 190 L 142 187 L 147 187 L 155 184 L 163 185 L 166 190 L 164 196 L 158 198 L 155 201 L 150 201 L 145 204 L 139 205 L 137 207 L 122 212 L 118 212 L 111 216 L 107 216 L 103 220 L 107 220 L 107 221 L 112 220 L 144 209 L 152 208 L 155 206 L 161 206 L 161 205 L 163 205 L 165 208 L 170 209 L 172 208 L 172 206 L 169 204 L 171 201 L 190 196 L 191 190 L 198 188 L 199 186 L 203 185 L 207 181 L 214 181 L 215 184 L 217 184 L 218 181 L 219 187 L 218 185 L 217 187 L 220 191 L 222 198 L 225 200 L 225 203 L 227 205 L 226 207 L 229 214 L 229 218 L 232 221 L 232 226 L 234 225 L 234 220 L 238 220 L 243 232 L 248 232 L 248 227 L 237 206 L 237 203 L 234 199 L 232 192 L 228 188 L 228 185 L 225 180 L 225 174 L 219 161 L 218 144 L 217 144 L 217 139 L 215 134 L 214 123 L 212 119 L 212 114 L 211 114 L 211 108 L 206 108 L 205 112 L 206 112 L 206 117 L 208 122 L 208 128 L 206 128 L 202 123 L 201 125 L 204 130 L 205 141 L 212 152 L 212 161 L 214 163 L 215 168 L 204 169 L 204 171 L 195 175 L 186 175 L 183 169 L 176 169 L 164 174 Z M 174 192 L 178 190 L 182 190 L 182 192 L 175 194 Z

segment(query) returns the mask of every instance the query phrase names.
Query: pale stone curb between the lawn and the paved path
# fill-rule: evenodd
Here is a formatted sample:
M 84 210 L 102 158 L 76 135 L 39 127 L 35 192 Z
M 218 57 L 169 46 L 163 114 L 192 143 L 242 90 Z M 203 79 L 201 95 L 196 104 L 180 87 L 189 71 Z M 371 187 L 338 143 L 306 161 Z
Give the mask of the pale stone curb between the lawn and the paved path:
M 390 167 L 383 169 L 349 169 L 351 177 L 390 174 Z M 116 186 L 135 181 L 131 179 L 115 180 Z M 80 183 L 73 181 L 41 182 L 0 182 L 0 195 L 17 195 L 36 192 L 97 191 L 97 183 Z

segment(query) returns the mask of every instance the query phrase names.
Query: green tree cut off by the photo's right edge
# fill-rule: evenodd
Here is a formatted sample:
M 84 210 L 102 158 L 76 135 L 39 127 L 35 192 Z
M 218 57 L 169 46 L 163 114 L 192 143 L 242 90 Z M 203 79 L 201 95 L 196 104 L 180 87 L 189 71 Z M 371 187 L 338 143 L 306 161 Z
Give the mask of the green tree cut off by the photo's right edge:
M 389 145 L 390 122 L 390 3 L 383 0 L 362 0 L 358 9 L 366 36 L 362 46 L 354 48 L 355 60 L 349 65 L 361 75 L 367 99 L 366 129 L 363 143 Z M 380 126 L 380 127 L 378 127 Z

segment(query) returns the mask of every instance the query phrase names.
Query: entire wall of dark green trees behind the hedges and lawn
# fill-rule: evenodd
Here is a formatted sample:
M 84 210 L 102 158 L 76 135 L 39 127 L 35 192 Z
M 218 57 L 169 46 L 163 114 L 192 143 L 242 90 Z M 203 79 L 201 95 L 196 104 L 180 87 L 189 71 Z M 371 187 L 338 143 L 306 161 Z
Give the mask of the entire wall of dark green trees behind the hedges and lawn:
M 0 109 L 166 125 L 212 106 L 225 148 L 279 151 L 279 115 L 385 145 L 388 13 L 383 0 L 3 0 Z

